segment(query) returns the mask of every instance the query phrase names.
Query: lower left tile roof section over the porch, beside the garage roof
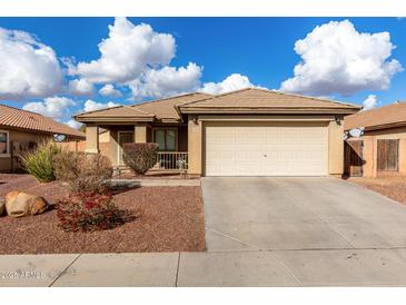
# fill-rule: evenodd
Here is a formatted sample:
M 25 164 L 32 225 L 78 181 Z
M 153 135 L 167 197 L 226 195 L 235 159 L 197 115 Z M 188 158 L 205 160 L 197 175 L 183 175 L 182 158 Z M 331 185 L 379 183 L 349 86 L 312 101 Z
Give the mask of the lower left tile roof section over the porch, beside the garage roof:
M 182 95 L 166 99 L 146 101 L 142 104 L 136 104 L 132 106 L 118 106 L 111 107 L 102 110 L 96 110 L 90 112 L 82 112 L 75 116 L 80 120 L 90 119 L 107 119 L 107 118 L 128 118 L 128 119 L 143 119 L 143 120 L 162 120 L 162 121 L 179 121 L 180 116 L 176 110 L 176 106 L 182 105 L 185 102 L 191 102 L 199 99 L 208 98 L 209 95 L 196 92 L 189 95 Z

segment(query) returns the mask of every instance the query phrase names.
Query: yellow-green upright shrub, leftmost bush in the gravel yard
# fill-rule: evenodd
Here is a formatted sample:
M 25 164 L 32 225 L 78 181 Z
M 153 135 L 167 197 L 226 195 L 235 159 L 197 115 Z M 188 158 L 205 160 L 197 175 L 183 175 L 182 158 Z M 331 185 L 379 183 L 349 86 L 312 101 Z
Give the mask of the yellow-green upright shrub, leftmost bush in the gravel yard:
M 40 183 L 55 180 L 53 159 L 61 149 L 52 142 L 42 142 L 37 148 L 28 149 L 21 154 L 26 171 Z

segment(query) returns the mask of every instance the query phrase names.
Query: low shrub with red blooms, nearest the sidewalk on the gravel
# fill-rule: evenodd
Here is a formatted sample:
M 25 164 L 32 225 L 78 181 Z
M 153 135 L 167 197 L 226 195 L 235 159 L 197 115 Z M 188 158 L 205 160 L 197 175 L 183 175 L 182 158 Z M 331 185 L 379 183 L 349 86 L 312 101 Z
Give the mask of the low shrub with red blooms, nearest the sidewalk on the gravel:
M 58 201 L 59 227 L 67 232 L 110 229 L 125 222 L 110 194 L 81 191 Z

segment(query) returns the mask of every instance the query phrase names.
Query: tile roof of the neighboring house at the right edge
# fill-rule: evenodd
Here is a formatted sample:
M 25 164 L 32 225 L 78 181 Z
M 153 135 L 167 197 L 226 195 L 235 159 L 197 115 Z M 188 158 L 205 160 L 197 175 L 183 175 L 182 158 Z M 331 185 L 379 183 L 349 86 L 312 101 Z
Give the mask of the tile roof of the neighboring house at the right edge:
M 406 102 L 395 102 L 372 110 L 359 111 L 344 119 L 344 129 L 365 127 L 380 129 L 386 125 L 406 125 Z

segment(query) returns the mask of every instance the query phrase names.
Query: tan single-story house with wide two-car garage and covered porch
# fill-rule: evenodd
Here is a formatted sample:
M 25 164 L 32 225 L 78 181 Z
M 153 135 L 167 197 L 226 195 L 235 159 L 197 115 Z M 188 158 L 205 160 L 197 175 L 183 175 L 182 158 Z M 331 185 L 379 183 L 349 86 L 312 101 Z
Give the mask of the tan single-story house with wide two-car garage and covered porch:
M 110 159 L 122 165 L 125 142 L 159 144 L 159 169 L 188 159 L 205 176 L 343 174 L 344 116 L 358 106 L 247 88 L 219 96 L 190 94 L 83 112 L 86 151 L 99 151 L 98 128 L 110 130 Z

